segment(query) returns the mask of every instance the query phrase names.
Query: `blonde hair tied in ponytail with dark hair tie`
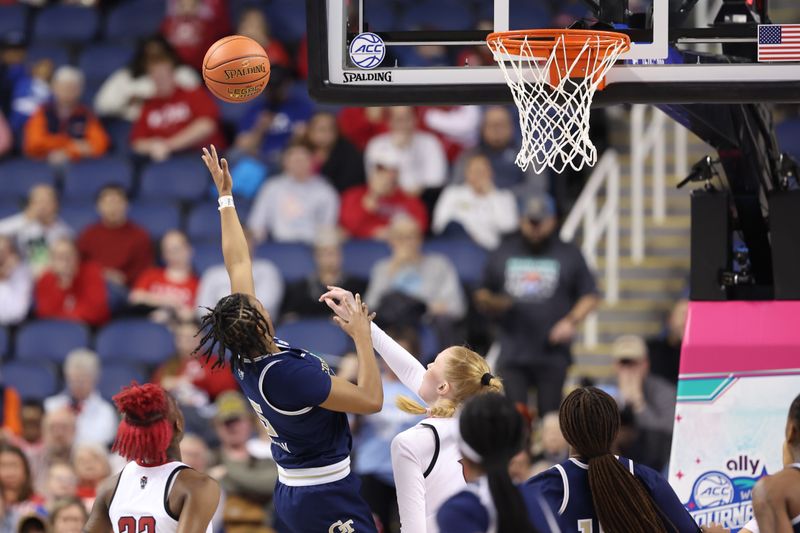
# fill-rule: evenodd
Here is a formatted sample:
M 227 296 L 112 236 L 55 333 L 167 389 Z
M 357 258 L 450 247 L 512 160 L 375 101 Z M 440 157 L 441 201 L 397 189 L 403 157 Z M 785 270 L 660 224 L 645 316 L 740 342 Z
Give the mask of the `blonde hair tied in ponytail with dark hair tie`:
M 430 415 L 436 418 L 452 418 L 458 407 L 468 398 L 493 392 L 503 394 L 503 382 L 489 371 L 486 359 L 464 346 L 447 348 L 450 357 L 444 369 L 444 377 L 453 390 L 453 398 L 440 398 L 430 409 L 407 396 L 397 398 L 395 405 L 404 413 Z M 484 384 L 484 376 L 489 375 Z

